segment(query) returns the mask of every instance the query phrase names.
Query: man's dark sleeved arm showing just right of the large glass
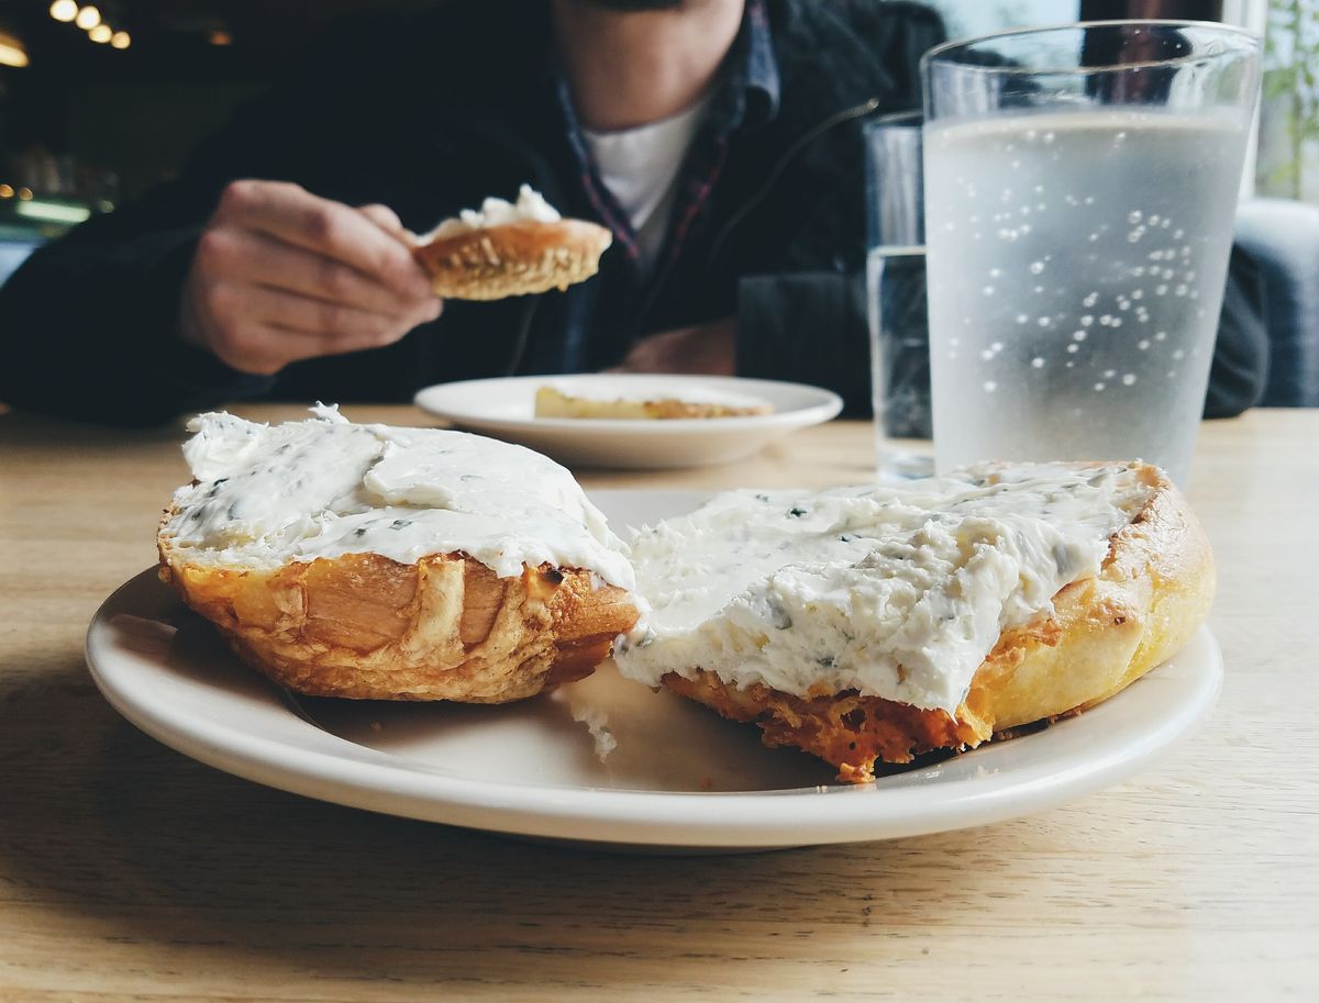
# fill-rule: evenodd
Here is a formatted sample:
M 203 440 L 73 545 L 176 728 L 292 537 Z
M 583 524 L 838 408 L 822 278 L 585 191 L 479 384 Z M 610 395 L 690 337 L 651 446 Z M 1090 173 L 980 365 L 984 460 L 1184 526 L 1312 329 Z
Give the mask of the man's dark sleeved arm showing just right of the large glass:
M 1232 248 L 1204 398 L 1206 418 L 1232 418 L 1264 397 L 1269 377 L 1264 307 L 1264 281 L 1254 258 L 1241 248 Z

